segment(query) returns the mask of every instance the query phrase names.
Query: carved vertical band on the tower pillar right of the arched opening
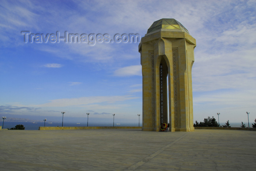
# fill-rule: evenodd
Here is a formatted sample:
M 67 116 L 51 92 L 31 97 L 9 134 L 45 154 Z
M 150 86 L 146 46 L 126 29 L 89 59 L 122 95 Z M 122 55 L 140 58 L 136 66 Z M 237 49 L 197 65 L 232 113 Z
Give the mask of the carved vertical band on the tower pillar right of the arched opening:
M 173 101 L 174 101 L 174 127 L 179 127 L 179 101 L 178 101 L 178 58 L 177 48 L 172 49 L 173 53 Z

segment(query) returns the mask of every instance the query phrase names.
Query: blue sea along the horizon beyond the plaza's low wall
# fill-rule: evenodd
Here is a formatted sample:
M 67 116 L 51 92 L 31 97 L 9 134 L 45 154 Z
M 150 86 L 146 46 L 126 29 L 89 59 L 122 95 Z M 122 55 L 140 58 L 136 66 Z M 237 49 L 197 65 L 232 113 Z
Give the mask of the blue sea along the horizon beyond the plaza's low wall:
M 225 125 L 225 123 L 219 123 L 220 125 Z M 2 128 L 14 128 L 16 125 L 23 125 L 25 130 L 38 130 L 39 127 L 44 127 L 44 122 L 14 122 L 14 121 L 4 121 Z M 45 122 L 45 127 L 61 127 L 62 122 Z M 112 127 L 113 123 L 88 123 L 89 127 Z M 114 127 L 137 127 L 138 123 L 114 123 Z M 140 123 L 142 126 L 142 123 Z M 231 127 L 239 127 L 241 123 L 230 123 Z M 87 127 L 87 123 L 63 123 L 63 127 Z M 248 123 L 245 123 L 245 127 L 248 127 Z M 250 125 L 252 127 L 252 125 Z

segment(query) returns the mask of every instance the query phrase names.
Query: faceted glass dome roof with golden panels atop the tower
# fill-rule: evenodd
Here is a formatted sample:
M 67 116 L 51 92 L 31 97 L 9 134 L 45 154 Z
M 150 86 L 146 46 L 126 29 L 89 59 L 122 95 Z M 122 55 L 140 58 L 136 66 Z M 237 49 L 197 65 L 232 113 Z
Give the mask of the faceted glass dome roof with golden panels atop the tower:
M 177 29 L 177 30 L 182 30 L 184 32 L 188 32 L 188 30 L 177 20 L 175 19 L 168 19 L 168 18 L 163 18 L 160 20 L 155 21 L 150 28 L 147 30 L 147 34 L 159 29 Z

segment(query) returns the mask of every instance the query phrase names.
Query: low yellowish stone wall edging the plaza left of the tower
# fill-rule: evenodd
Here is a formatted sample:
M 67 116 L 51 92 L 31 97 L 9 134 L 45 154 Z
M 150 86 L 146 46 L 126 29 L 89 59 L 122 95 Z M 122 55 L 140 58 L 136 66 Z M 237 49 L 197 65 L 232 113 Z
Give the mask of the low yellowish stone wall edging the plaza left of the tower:
M 38 130 L 62 130 L 62 129 L 141 129 L 142 127 L 39 127 Z

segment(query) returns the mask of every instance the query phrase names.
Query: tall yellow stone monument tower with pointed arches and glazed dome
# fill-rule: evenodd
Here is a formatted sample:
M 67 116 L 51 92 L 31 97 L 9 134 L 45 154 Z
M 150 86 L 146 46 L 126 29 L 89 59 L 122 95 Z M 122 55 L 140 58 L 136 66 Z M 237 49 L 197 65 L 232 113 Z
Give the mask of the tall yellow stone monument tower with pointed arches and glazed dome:
M 143 76 L 143 131 L 193 131 L 191 69 L 196 39 L 175 19 L 148 28 L 139 44 Z

